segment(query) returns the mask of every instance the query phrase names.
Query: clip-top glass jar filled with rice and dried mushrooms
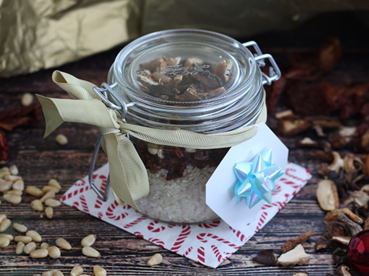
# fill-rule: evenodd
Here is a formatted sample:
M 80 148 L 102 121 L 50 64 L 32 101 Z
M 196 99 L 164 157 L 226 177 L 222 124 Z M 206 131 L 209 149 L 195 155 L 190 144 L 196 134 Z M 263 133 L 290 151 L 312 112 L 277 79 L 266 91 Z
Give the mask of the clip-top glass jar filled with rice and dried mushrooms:
M 266 60 L 272 65 L 269 75 L 259 68 Z M 272 56 L 262 54 L 255 42 L 175 29 L 145 35 L 124 47 L 110 68 L 108 84 L 94 90 L 127 123 L 210 134 L 265 120 L 263 84 L 279 77 Z M 149 195 L 136 201 L 142 213 L 171 223 L 217 219 L 205 203 L 205 184 L 228 148 L 179 148 L 130 139 L 149 177 Z M 92 178 L 90 184 L 107 198 L 108 192 L 101 195 Z

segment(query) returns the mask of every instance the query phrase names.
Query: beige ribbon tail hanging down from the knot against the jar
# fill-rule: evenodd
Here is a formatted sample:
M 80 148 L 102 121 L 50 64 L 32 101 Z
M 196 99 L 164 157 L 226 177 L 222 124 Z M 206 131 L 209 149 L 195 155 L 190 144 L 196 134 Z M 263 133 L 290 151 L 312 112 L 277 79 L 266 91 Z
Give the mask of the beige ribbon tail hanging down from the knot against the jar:
M 127 203 L 139 210 L 135 200 L 149 194 L 146 168 L 130 141 L 123 134 L 104 135 L 109 160 L 110 182 L 118 203 Z

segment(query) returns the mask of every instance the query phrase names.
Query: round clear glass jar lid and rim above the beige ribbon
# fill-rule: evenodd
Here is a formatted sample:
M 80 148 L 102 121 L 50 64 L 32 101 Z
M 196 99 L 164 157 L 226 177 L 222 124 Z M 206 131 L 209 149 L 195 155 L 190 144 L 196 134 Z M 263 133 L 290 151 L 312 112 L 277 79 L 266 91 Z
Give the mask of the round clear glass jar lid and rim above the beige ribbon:
M 269 55 L 270 56 L 270 55 Z M 212 133 L 253 124 L 265 101 L 254 55 L 220 33 L 173 29 L 142 36 L 116 57 L 108 83 L 127 122 Z

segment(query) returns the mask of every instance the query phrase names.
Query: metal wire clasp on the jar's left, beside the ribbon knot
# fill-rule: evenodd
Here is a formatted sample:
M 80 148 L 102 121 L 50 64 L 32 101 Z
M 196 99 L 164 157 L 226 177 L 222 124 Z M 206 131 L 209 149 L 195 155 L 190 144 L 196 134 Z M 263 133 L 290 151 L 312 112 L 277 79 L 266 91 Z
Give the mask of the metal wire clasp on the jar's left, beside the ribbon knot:
M 96 93 L 97 96 L 99 96 L 99 98 L 103 101 L 103 103 L 105 103 L 105 105 L 107 105 L 111 109 L 117 110 L 120 113 L 122 120 L 124 120 L 125 115 L 127 114 L 128 108 L 127 108 L 127 105 L 125 104 L 125 102 L 123 102 L 123 100 L 121 100 L 117 96 L 115 91 L 112 89 L 112 87 L 114 87 L 116 85 L 117 84 L 115 83 L 115 84 L 110 86 L 106 82 L 103 82 L 101 84 L 101 88 L 95 86 L 93 88 L 93 91 Z M 111 98 L 114 101 L 118 102 L 120 105 L 116 105 L 115 103 L 111 102 L 111 100 L 109 98 Z M 104 194 L 102 194 L 102 192 L 99 191 L 99 188 L 96 187 L 96 185 L 94 183 L 94 180 L 93 180 L 93 171 L 94 171 L 94 168 L 95 168 L 97 155 L 99 153 L 102 137 L 103 137 L 103 135 L 100 133 L 99 136 L 97 137 L 96 145 L 95 145 L 95 148 L 94 148 L 94 151 L 93 151 L 93 154 L 92 154 L 91 164 L 90 164 L 90 168 L 89 168 L 89 184 L 90 184 L 92 190 L 94 192 L 96 192 L 97 196 L 102 201 L 107 201 L 108 197 L 109 197 L 109 192 L 110 192 L 110 174 L 108 175 L 108 179 L 107 179 L 107 182 L 106 182 L 106 187 L 105 187 Z

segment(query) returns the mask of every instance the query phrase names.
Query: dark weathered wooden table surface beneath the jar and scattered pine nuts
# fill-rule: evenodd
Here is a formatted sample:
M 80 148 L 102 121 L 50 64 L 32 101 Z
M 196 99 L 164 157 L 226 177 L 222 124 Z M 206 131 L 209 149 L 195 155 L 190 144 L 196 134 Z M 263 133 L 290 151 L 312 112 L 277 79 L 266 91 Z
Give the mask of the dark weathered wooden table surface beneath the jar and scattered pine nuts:
M 318 45 L 318 43 L 315 43 Z M 272 53 L 279 63 L 283 63 L 286 52 L 314 52 L 314 47 L 284 47 L 261 44 L 263 52 Z M 106 81 L 107 71 L 120 50 L 117 47 L 106 53 L 77 61 L 58 68 L 76 77 L 86 79 L 97 85 Z M 328 80 L 368 81 L 368 51 L 348 47 L 338 68 L 328 74 Z M 21 107 L 21 95 L 25 92 L 66 98 L 51 81 L 53 70 L 45 70 L 25 76 L 0 79 L 0 112 L 6 109 Z M 277 110 L 285 109 L 283 100 Z M 268 124 L 275 127 L 275 118 L 269 114 Z M 55 177 L 62 185 L 61 197 L 77 179 L 86 176 L 94 144 L 97 138 L 95 128 L 76 123 L 65 123 L 55 133 L 46 139 L 44 121 L 34 128 L 16 128 L 7 132 L 11 148 L 10 164 L 16 164 L 26 185 L 42 187 L 49 178 Z M 69 138 L 65 146 L 55 142 L 57 133 L 63 133 Z M 59 269 L 64 275 L 69 275 L 75 265 L 84 265 L 85 271 L 93 275 L 92 266 L 103 266 L 108 275 L 293 275 L 296 272 L 308 272 L 309 275 L 322 276 L 326 273 L 335 274 L 335 265 L 330 252 L 315 252 L 314 243 L 326 230 L 323 223 L 325 212 L 320 209 L 315 199 L 315 187 L 318 181 L 317 169 L 319 161 L 309 158 L 308 151 L 296 148 L 296 141 L 303 138 L 282 138 L 290 149 L 289 160 L 306 167 L 313 173 L 311 181 L 287 204 L 280 212 L 255 234 L 235 254 L 225 260 L 217 269 L 208 268 L 183 256 L 162 249 L 148 241 L 136 237 L 124 230 L 118 229 L 96 217 L 86 215 L 70 206 L 62 205 L 55 208 L 53 219 L 48 220 L 40 212 L 30 208 L 33 197 L 23 195 L 19 205 L 11 205 L 3 200 L 0 213 L 6 213 L 13 222 L 26 224 L 29 229 L 37 230 L 46 242 L 52 243 L 55 238 L 64 237 L 72 244 L 72 250 L 62 250 L 58 259 L 30 259 L 27 255 L 15 254 L 15 243 L 5 249 L 0 249 L 0 275 L 32 275 L 49 269 Z M 103 152 L 99 153 L 97 166 L 107 162 Z M 268 267 L 251 261 L 255 254 L 264 249 L 274 248 L 280 252 L 280 246 L 289 238 L 299 236 L 305 231 L 315 231 L 316 234 L 303 246 L 311 256 L 307 266 L 283 268 Z M 11 234 L 16 232 L 11 229 Z M 83 256 L 80 250 L 80 240 L 87 234 L 95 233 L 98 238 L 94 247 L 100 251 L 101 257 L 93 259 Z M 146 265 L 150 256 L 155 253 L 163 255 L 163 262 L 154 267 Z M 353 273 L 353 275 L 355 275 Z

